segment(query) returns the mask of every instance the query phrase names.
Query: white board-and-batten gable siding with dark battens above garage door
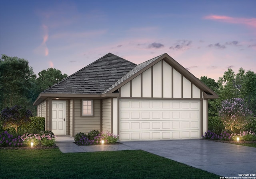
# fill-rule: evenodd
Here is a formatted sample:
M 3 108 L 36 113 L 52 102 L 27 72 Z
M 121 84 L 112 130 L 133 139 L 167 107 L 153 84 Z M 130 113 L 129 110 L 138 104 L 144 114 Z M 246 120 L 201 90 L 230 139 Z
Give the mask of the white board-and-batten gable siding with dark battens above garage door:
M 201 98 L 201 90 L 164 60 L 124 84 L 120 93 L 120 97 Z

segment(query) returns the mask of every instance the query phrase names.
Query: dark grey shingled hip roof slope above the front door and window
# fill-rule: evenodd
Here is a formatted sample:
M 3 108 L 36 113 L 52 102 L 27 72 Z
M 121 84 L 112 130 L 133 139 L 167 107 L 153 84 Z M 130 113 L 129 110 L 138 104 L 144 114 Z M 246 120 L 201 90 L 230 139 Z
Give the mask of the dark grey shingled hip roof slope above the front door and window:
M 136 66 L 108 53 L 42 93 L 101 94 Z

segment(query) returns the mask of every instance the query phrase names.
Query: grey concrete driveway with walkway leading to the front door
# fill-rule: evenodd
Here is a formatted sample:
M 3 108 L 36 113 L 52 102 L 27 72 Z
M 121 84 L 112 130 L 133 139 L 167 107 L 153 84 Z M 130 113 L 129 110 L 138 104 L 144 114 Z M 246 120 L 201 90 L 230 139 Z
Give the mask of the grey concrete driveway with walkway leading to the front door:
M 207 140 L 133 141 L 122 142 L 120 145 L 93 146 L 78 146 L 72 138 L 67 141 L 57 137 L 56 140 L 63 153 L 144 150 L 222 177 L 256 174 L 255 147 Z

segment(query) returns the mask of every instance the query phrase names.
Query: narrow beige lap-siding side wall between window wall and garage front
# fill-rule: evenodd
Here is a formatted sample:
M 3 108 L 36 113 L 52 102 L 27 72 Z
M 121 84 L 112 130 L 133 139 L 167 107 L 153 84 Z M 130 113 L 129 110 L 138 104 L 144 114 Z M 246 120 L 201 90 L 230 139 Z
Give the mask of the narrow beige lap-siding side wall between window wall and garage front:
M 111 131 L 111 99 L 102 100 L 102 131 Z

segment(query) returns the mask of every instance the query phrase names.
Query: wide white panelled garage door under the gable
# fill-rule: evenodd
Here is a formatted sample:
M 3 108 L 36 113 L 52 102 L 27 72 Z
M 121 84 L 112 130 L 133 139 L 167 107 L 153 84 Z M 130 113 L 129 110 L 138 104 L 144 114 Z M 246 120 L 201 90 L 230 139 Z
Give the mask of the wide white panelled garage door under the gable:
M 120 99 L 120 141 L 200 138 L 200 101 Z

